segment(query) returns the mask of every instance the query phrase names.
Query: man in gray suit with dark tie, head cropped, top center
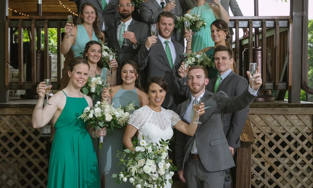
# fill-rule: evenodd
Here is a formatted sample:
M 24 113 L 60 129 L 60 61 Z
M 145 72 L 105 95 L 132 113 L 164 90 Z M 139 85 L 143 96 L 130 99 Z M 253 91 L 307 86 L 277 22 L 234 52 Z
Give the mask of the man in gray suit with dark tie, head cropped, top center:
M 175 4 L 171 4 L 175 3 Z M 169 1 L 169 0 L 149 0 L 140 4 L 139 13 L 141 19 L 148 24 L 155 24 L 156 20 L 160 13 L 162 12 L 173 12 L 175 19 L 176 16 L 183 15 L 183 9 L 191 9 L 193 8 L 193 3 L 190 0 L 177 0 L 177 1 Z M 182 30 L 183 32 L 183 30 Z M 172 37 L 179 43 L 184 44 L 184 38 L 181 33 L 178 33 L 176 30 L 174 31 Z

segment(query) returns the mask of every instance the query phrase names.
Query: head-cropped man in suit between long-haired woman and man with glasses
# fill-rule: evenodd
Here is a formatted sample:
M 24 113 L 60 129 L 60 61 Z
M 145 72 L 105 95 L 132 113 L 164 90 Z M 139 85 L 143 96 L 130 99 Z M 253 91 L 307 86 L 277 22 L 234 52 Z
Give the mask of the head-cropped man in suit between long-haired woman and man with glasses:
M 118 22 L 120 14 L 116 11 L 117 0 L 69 0 L 74 1 L 77 6 L 77 11 L 80 13 L 80 8 L 84 3 L 92 3 L 97 9 L 98 17 L 100 19 L 100 31 L 104 31 L 105 39 L 107 35 L 106 30 L 115 26 L 115 23 Z M 107 40 L 106 40 L 107 41 Z

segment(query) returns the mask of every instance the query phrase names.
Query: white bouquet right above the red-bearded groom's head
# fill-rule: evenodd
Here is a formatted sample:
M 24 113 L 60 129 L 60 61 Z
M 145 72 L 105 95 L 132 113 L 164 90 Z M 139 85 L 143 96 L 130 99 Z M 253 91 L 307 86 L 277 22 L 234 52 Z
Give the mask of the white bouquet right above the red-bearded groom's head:
M 188 54 L 183 53 L 183 55 L 187 56 Z M 184 61 L 187 61 L 190 66 L 192 65 L 202 65 L 204 67 L 213 67 L 215 68 L 214 62 L 208 58 L 208 56 L 205 53 L 197 54 L 195 51 L 192 52 L 188 58 L 186 58 Z

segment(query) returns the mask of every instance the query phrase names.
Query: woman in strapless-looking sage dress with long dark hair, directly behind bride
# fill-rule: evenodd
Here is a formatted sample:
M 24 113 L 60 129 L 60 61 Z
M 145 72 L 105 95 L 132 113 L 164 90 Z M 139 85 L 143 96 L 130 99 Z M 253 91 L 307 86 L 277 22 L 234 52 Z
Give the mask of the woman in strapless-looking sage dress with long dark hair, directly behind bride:
M 102 91 L 102 99 L 110 98 L 113 107 L 118 108 L 120 105 L 126 107 L 127 104 L 133 103 L 135 106 L 142 107 L 149 103 L 147 94 L 143 91 L 140 85 L 139 65 L 132 60 L 124 60 L 121 63 L 119 81 L 122 85 L 112 87 L 111 96 L 107 90 Z M 113 131 L 107 133 L 103 138 L 103 148 L 99 149 L 98 162 L 101 185 L 109 188 L 120 188 L 121 185 L 115 183 L 115 178 L 112 174 L 121 172 L 121 165 L 117 167 L 120 162 L 116 158 L 117 150 L 123 150 L 123 136 L 124 130 L 122 128 L 114 128 Z M 123 188 L 134 187 L 130 182 L 123 184 Z

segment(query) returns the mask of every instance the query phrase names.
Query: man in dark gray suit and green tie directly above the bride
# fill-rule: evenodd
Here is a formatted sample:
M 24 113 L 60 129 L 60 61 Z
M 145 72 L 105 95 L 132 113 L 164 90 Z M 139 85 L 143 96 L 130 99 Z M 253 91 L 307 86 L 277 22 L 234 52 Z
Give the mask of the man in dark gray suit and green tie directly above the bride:
M 174 29 L 174 15 L 170 12 L 162 12 L 158 15 L 156 27 L 158 37 L 148 37 L 146 44 L 142 45 L 135 57 L 141 69 L 147 72 L 146 79 L 152 76 L 160 76 L 167 81 L 167 92 L 162 107 L 177 112 L 177 105 L 186 100 L 180 91 L 177 82 L 177 70 L 185 56 L 182 44 L 172 39 Z M 154 45 L 156 44 L 156 45 Z

